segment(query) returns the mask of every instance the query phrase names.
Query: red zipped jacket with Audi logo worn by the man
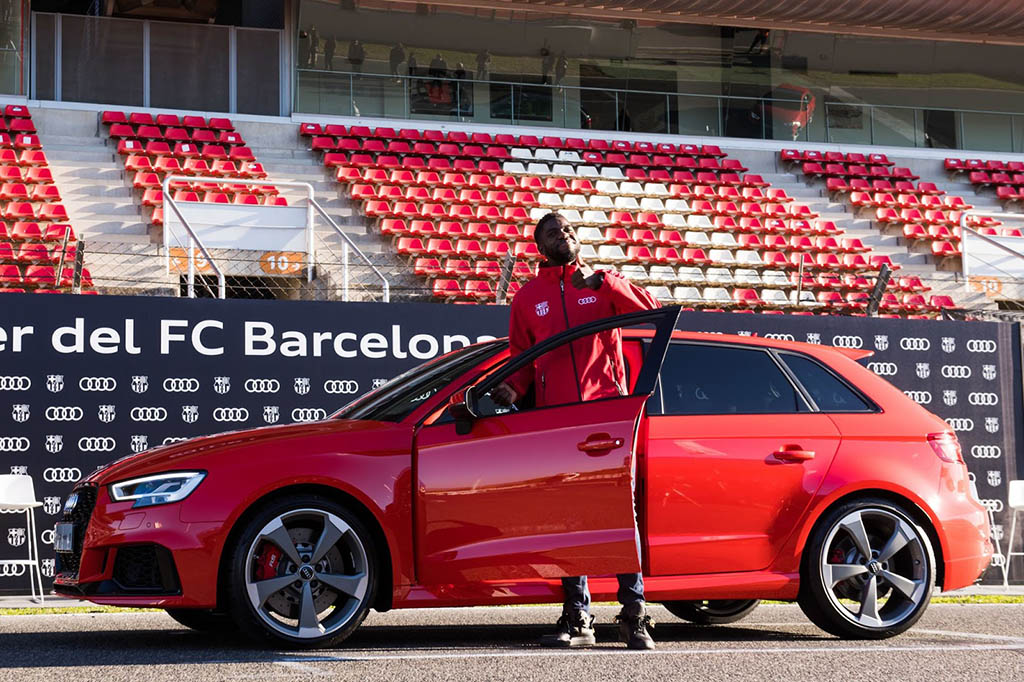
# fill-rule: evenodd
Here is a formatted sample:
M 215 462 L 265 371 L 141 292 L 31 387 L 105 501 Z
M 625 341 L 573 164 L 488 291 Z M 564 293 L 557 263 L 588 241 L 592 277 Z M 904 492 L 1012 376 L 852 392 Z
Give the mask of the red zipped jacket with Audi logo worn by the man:
M 512 299 L 509 350 L 517 355 L 570 327 L 627 312 L 650 310 L 657 301 L 626 278 L 606 272 L 593 289 L 572 286 L 574 263 L 542 264 L 534 280 Z M 628 392 L 620 330 L 608 330 L 545 353 L 508 380 L 523 395 L 536 383 L 537 404 L 564 404 Z

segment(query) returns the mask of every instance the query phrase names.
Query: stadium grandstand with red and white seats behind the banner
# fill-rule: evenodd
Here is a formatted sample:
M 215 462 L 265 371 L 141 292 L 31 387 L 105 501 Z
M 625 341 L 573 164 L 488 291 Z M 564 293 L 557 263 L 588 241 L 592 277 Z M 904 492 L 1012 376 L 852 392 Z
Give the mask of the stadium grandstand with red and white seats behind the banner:
M 0 292 L 1012 315 L 1024 2 L 4 0 Z

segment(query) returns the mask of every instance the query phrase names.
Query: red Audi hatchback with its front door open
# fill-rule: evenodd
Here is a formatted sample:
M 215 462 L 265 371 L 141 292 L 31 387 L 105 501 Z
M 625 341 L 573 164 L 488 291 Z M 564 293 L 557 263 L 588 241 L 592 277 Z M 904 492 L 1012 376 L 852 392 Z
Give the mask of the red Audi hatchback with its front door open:
M 559 578 L 642 569 L 650 601 L 728 623 L 800 602 L 841 637 L 909 628 L 991 547 L 956 438 L 867 351 L 674 331 L 678 308 L 516 357 L 477 344 L 330 419 L 133 455 L 75 486 L 55 590 L 166 608 L 272 645 L 343 640 L 371 608 L 560 602 Z M 488 391 L 624 330 L 631 391 L 511 409 Z M 612 599 L 613 578 L 591 581 Z

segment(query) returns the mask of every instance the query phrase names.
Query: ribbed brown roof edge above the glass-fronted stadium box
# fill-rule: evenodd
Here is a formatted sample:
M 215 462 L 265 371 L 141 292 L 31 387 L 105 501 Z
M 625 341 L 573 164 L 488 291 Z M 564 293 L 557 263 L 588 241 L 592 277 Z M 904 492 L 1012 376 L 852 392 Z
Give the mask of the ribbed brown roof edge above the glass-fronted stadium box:
M 1024 44 L 1024 0 L 436 0 L 636 22 Z

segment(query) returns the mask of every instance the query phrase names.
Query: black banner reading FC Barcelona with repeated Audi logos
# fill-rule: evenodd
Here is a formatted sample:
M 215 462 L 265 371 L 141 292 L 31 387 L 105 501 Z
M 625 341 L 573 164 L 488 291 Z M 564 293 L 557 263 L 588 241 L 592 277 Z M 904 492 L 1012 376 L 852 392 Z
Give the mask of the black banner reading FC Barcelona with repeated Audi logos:
M 187 437 L 311 421 L 411 367 L 504 336 L 497 306 L 6 295 L 0 303 L 0 473 L 29 473 L 43 572 L 74 481 Z M 876 351 L 866 365 L 947 420 L 980 497 L 1006 519 L 1020 467 L 1016 325 L 683 313 L 680 328 Z M 1007 526 L 1009 527 L 1009 526 Z M 0 515 L 0 559 L 27 555 L 25 517 Z M 994 563 L 997 563 L 996 560 Z M 25 593 L 0 564 L 0 592 Z M 988 581 L 1001 581 L 997 567 Z M 45 583 L 45 581 L 44 581 Z

